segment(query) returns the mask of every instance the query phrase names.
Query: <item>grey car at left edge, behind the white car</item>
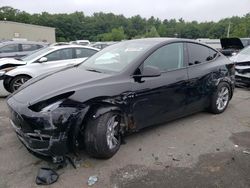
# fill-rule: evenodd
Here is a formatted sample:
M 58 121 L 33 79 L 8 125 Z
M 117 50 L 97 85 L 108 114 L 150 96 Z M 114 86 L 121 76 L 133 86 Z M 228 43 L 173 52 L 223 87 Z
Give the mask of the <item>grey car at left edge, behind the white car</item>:
M 47 46 L 42 42 L 5 41 L 0 43 L 0 58 L 21 58 L 31 52 Z

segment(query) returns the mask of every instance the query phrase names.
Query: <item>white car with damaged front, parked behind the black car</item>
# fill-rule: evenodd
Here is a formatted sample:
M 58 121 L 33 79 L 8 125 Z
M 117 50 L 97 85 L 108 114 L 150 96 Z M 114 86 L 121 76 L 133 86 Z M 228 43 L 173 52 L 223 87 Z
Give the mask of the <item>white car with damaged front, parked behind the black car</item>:
M 77 65 L 99 49 L 79 45 L 50 46 L 26 57 L 0 59 L 0 96 L 7 96 L 31 78 Z

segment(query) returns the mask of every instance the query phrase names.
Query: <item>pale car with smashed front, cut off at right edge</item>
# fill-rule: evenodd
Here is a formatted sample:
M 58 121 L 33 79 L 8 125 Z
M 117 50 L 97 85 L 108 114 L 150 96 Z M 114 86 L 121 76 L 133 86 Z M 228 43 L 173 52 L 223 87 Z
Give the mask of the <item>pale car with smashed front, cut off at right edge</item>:
M 236 85 L 250 87 L 250 46 L 230 59 L 235 63 Z

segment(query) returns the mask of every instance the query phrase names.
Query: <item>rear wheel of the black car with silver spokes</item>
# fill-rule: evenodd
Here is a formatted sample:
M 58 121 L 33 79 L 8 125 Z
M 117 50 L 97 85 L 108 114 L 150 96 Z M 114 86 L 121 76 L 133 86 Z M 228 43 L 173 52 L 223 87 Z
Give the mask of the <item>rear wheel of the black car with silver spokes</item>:
M 211 100 L 210 110 L 214 114 L 224 112 L 230 100 L 230 86 L 222 82 L 218 85 L 216 92 L 214 92 Z

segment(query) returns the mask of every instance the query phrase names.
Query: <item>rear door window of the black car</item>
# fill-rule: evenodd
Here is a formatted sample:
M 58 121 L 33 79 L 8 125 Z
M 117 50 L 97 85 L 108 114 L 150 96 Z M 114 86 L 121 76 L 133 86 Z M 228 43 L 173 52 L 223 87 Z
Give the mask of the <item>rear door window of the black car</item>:
M 189 65 L 200 64 L 213 60 L 217 56 L 217 52 L 206 46 L 188 43 Z

